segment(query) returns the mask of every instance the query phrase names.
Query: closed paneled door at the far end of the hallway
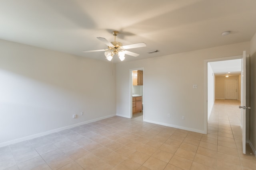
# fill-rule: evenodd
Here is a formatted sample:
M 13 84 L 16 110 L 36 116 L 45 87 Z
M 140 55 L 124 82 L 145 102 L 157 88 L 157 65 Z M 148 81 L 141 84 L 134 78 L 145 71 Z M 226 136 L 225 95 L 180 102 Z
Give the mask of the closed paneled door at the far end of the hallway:
M 237 80 L 225 80 L 225 98 L 237 100 Z

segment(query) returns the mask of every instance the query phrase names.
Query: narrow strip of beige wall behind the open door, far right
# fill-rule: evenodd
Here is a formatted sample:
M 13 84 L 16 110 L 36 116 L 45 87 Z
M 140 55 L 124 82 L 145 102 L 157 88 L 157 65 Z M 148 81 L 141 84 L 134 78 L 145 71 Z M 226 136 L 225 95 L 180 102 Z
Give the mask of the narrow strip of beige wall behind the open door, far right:
M 256 154 L 256 34 L 250 41 L 250 145 Z

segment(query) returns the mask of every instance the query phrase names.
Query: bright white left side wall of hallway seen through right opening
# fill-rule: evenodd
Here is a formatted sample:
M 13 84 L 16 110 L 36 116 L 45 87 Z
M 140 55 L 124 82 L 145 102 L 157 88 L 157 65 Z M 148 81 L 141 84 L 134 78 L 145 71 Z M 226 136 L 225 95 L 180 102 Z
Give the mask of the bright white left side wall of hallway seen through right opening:
M 215 102 L 215 76 L 210 63 L 207 63 L 207 70 L 207 120 L 209 120 Z

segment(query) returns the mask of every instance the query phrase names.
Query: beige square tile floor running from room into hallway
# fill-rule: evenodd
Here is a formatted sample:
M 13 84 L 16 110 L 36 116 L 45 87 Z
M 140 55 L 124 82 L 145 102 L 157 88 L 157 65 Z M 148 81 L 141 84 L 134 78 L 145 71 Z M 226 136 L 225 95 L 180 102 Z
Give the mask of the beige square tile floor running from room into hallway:
M 239 102 L 216 100 L 208 134 L 114 116 L 0 148 L 0 170 L 256 170 Z

